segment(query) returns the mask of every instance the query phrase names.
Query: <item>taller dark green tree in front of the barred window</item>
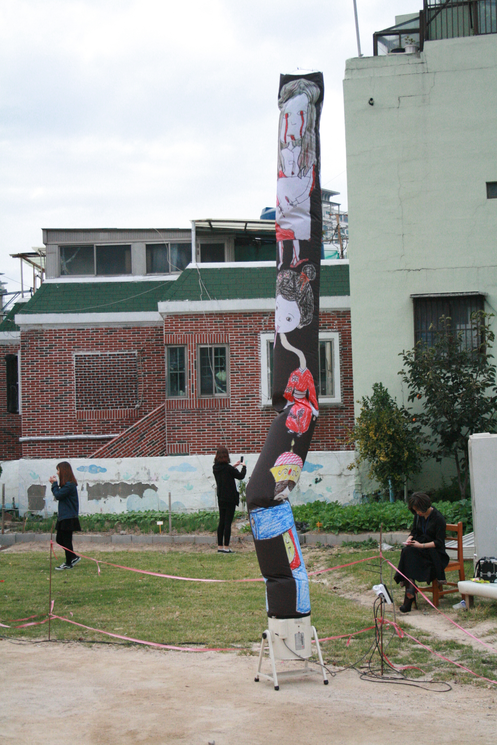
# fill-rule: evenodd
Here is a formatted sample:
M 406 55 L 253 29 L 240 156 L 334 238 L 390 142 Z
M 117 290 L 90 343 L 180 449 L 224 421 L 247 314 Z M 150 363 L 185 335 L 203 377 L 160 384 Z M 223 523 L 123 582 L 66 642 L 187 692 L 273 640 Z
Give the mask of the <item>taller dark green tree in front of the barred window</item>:
M 463 343 L 464 332 L 455 334 L 451 319 L 442 316 L 433 346 L 420 341 L 402 352 L 404 370 L 399 375 L 408 387 L 408 401 L 423 400 L 423 411 L 411 413 L 412 421 L 418 431 L 424 428 L 438 463 L 443 457 L 455 460 L 461 499 L 466 497 L 469 476 L 469 435 L 495 432 L 497 426 L 492 317 L 484 311 L 472 313 L 469 349 Z

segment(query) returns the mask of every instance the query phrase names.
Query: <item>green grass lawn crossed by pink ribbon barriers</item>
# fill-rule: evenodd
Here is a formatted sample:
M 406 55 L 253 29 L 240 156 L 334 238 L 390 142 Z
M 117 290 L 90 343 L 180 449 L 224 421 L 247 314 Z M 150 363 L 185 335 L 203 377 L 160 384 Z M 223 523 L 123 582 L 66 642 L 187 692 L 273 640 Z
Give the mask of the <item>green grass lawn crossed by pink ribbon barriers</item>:
M 309 571 L 373 557 L 375 553 L 353 548 L 340 551 L 319 547 L 304 550 Z M 202 553 L 97 551 L 90 555 L 116 564 L 184 577 L 238 579 L 260 576 L 254 552 L 219 556 L 207 550 Z M 62 561 L 62 554 L 57 553 L 57 556 Z M 388 558 L 393 563 L 397 562 L 398 557 L 398 552 L 388 552 Z M 378 564 L 377 560 L 375 563 Z M 371 588 L 379 581 L 378 575 L 367 571 L 368 568 L 371 567 L 359 564 L 311 577 L 312 623 L 320 637 L 353 633 L 372 625 L 372 606 L 361 605 L 354 599 L 344 597 L 347 593 Z M 0 554 L 0 579 L 4 580 L 0 585 L 2 624 L 34 613 L 46 614 L 48 569 L 48 551 Z M 389 568 L 385 571 L 384 581 L 389 586 Z M 402 601 L 402 592 L 395 586 L 397 607 Z M 260 640 L 267 623 L 263 583 L 189 583 L 136 574 L 106 565 L 101 565 L 99 576 L 94 562 L 85 559 L 71 571 L 52 572 L 52 599 L 55 600 L 54 613 L 57 615 L 108 632 L 163 644 L 205 644 L 210 647 L 234 644 L 250 649 L 252 644 Z M 442 609 L 452 612 L 452 602 L 457 599 L 458 596 L 454 595 L 454 600 L 452 597 L 443 600 Z M 497 625 L 496 603 L 477 601 L 476 606 L 474 612 L 461 612 L 458 622 L 469 625 L 472 619 L 483 614 L 485 618 L 496 618 Z M 72 617 L 69 615 L 71 612 Z M 405 617 L 400 618 L 400 623 L 408 630 L 406 621 Z M 48 624 L 27 629 L 2 629 L 1 632 L 22 638 L 47 638 Z M 484 647 L 480 652 L 463 644 L 438 641 L 419 631 L 411 630 L 411 633 L 441 654 L 456 659 L 481 675 L 497 679 L 497 659 L 491 653 L 487 654 Z M 68 640 L 109 641 L 109 637 L 57 620 L 51 622 L 51 636 Z M 419 665 L 437 679 L 458 679 L 462 682 L 472 677 L 434 658 L 413 642 L 405 638 L 401 641 L 391 632 L 385 633 L 385 644 L 390 638 L 388 656 L 392 662 Z M 368 652 L 373 632 L 353 638 L 348 647 L 346 641 L 323 644 L 325 659 L 337 665 L 351 665 Z

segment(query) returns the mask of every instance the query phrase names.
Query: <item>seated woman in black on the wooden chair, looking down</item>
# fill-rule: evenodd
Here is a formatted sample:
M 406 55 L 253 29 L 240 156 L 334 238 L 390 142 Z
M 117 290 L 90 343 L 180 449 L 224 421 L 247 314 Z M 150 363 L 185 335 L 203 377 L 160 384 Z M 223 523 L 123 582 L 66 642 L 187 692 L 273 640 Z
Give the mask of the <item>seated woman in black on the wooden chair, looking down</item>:
M 394 580 L 405 587 L 404 602 L 400 611 L 408 613 L 412 601 L 416 603 L 417 587 L 415 580 L 431 585 L 445 580 L 445 568 L 449 556 L 445 550 L 445 518 L 435 507 L 427 494 L 416 492 L 409 499 L 409 510 L 414 515 L 407 545 L 400 554 L 400 562 Z M 402 574 L 400 574 L 402 572 Z M 404 577 L 402 576 L 404 575 Z M 405 580 L 408 577 L 408 580 Z M 416 603 L 417 607 L 417 603 Z

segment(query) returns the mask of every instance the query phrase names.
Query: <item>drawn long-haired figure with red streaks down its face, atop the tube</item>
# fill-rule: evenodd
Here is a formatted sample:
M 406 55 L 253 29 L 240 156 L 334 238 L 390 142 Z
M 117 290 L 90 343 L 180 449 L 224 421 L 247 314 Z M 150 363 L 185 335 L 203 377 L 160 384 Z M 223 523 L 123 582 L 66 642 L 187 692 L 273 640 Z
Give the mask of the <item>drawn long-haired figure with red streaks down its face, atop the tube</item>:
M 276 240 L 283 264 L 283 241 L 293 241 L 291 267 L 301 264 L 299 241 L 310 240 L 310 194 L 315 186 L 315 121 L 319 89 L 300 78 L 283 86 L 278 99 L 278 191 Z

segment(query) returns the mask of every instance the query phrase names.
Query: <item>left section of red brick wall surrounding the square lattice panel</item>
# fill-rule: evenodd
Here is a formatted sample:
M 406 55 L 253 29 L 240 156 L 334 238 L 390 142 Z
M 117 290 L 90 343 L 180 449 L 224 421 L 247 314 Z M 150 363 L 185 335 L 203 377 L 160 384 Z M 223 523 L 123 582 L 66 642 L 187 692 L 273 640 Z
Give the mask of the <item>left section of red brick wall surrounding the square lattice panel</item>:
M 118 434 L 164 401 L 161 326 L 31 329 L 21 334 L 22 435 Z M 137 352 L 138 409 L 77 411 L 74 352 Z M 99 381 L 95 380 L 95 385 Z M 118 399 L 118 380 L 114 386 Z M 110 438 L 109 438 L 110 440 Z M 103 440 L 22 443 L 24 457 L 89 457 Z

